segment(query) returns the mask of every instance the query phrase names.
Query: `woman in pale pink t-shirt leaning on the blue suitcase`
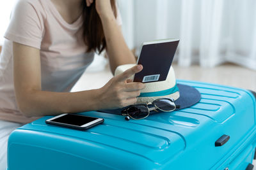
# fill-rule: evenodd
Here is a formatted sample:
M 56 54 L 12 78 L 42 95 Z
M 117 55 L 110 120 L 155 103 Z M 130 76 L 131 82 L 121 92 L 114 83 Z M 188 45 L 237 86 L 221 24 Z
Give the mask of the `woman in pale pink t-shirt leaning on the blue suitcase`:
M 106 49 L 112 73 L 135 63 L 121 33 L 114 0 L 19 0 L 0 58 L 0 169 L 6 168 L 8 136 L 45 115 L 120 108 L 136 103 L 143 83 L 128 80 L 134 66 L 104 87 L 69 92 Z M 88 80 L 88 83 L 93 83 Z

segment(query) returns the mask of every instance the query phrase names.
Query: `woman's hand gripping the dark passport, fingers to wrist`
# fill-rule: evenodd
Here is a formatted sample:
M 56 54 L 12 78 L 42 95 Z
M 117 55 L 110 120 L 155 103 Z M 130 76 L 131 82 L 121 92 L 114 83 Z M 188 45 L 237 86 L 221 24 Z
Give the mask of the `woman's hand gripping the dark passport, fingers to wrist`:
M 105 1 L 105 0 L 104 0 Z M 127 69 L 124 73 L 111 78 L 111 80 L 99 89 L 99 104 L 102 109 L 123 108 L 131 104 L 135 104 L 140 90 L 145 85 L 140 82 L 131 82 L 129 77 L 140 72 L 143 69 L 141 65 Z

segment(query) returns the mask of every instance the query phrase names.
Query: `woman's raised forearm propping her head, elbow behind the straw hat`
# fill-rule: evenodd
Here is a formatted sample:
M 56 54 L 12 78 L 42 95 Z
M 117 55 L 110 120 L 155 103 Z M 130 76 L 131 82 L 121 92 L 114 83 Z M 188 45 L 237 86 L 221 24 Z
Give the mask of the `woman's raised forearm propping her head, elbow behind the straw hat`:
M 86 0 L 88 6 L 95 0 Z M 96 0 L 95 7 L 99 13 L 107 43 L 107 53 L 112 73 L 122 64 L 136 64 L 122 35 L 121 27 L 116 23 L 115 15 L 109 0 Z

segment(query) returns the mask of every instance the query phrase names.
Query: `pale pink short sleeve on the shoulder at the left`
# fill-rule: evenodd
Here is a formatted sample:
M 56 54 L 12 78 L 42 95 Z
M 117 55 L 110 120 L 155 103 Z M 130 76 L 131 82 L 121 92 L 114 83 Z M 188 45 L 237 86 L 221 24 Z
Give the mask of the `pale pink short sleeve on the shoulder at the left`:
M 13 8 L 10 24 L 4 38 L 40 49 L 44 22 L 40 16 L 40 10 L 38 10 L 39 6 L 31 2 L 27 0 L 17 2 Z

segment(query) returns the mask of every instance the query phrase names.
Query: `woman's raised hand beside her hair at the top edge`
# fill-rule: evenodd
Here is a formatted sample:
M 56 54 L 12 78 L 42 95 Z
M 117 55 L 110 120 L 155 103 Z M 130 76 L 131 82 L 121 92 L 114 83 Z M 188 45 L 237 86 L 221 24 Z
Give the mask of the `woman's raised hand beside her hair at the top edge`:
M 95 8 L 100 17 L 113 15 L 110 0 L 86 0 L 87 6 L 95 1 Z

